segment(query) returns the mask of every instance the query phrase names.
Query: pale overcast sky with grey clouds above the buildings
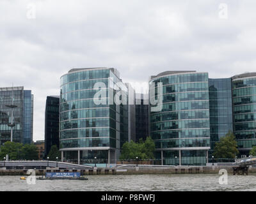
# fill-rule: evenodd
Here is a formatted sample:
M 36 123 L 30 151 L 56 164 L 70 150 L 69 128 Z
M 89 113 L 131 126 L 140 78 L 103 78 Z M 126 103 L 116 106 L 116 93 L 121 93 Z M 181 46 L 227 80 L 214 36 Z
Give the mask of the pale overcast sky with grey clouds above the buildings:
M 117 68 L 134 85 L 167 70 L 256 71 L 255 8 L 255 0 L 1 0 L 0 87 L 32 90 L 33 140 L 44 140 L 46 96 L 60 94 L 71 68 Z

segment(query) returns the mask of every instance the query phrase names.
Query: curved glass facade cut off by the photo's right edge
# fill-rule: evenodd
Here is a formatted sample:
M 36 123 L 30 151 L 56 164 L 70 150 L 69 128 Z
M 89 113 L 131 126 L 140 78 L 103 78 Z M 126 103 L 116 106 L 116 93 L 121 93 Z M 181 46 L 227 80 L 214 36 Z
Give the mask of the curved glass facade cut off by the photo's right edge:
M 240 154 L 256 145 L 256 76 L 232 80 L 234 135 Z

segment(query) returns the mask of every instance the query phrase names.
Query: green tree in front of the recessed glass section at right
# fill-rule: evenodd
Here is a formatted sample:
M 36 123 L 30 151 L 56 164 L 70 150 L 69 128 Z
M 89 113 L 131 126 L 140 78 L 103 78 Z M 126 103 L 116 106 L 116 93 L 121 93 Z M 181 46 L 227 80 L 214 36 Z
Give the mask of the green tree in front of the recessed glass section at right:
M 220 139 L 220 142 L 216 143 L 213 156 L 215 158 L 234 159 L 238 153 L 235 136 L 231 131 L 228 131 L 228 133 Z

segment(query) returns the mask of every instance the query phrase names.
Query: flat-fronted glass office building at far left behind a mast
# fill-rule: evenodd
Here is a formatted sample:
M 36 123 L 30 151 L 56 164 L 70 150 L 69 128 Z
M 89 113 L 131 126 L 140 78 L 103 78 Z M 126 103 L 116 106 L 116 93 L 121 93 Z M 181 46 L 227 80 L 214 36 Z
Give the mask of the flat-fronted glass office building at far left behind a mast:
M 11 140 L 12 111 L 13 142 L 33 142 L 33 94 L 24 87 L 4 87 L 0 88 L 0 145 Z

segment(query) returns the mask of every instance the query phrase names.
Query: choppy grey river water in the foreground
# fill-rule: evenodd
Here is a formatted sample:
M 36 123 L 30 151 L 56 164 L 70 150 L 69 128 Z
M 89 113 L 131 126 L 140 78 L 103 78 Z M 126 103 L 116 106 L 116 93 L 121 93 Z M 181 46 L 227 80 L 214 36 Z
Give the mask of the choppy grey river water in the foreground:
M 88 180 L 36 180 L 1 176 L 0 191 L 256 191 L 256 174 L 228 175 L 219 184 L 218 174 L 88 175 Z

